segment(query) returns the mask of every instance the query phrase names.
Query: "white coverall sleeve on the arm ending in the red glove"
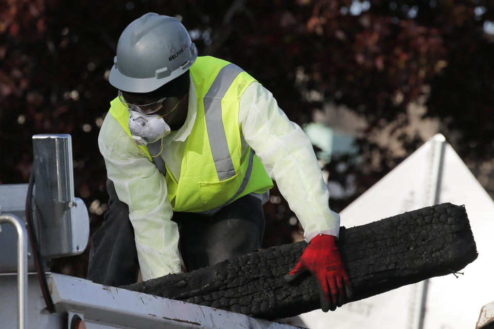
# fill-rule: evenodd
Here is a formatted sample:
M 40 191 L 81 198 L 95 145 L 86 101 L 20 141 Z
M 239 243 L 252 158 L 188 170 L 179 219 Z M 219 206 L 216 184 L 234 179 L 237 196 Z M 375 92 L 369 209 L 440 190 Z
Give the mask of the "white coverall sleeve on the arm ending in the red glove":
M 328 188 L 309 138 L 257 82 L 241 97 L 239 124 L 245 141 L 298 217 L 305 239 L 319 233 L 338 237 L 340 216 L 329 208 Z

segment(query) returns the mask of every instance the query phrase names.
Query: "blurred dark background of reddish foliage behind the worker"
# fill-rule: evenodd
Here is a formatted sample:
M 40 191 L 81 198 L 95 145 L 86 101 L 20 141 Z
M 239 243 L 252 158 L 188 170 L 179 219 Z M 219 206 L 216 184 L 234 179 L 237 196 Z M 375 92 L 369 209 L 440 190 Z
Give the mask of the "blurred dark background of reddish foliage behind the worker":
M 494 194 L 491 0 L 2 1 L 0 184 L 28 181 L 33 134 L 70 134 L 76 196 L 91 234 L 101 225 L 108 75 L 120 33 L 147 12 L 179 18 L 200 56 L 236 63 L 292 121 L 331 133 L 331 150 L 317 131 L 314 149 L 334 211 L 437 132 Z M 263 247 L 301 239 L 276 187 L 264 210 Z M 88 255 L 52 269 L 85 277 Z

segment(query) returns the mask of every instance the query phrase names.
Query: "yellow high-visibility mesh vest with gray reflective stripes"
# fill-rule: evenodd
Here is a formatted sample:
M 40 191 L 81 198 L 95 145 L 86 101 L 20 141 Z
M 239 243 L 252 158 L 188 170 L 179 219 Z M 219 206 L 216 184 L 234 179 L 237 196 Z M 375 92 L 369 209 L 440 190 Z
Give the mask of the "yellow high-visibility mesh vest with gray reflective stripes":
M 237 65 L 209 56 L 198 57 L 190 74 L 196 86 L 196 121 L 186 141 L 180 177 L 168 169 L 165 175 L 173 210 L 208 211 L 271 189 L 273 181 L 254 151 L 249 147 L 242 157 L 240 98 L 256 80 Z M 111 101 L 110 113 L 132 136 L 129 112 L 118 97 Z M 152 161 L 149 150 L 138 147 Z

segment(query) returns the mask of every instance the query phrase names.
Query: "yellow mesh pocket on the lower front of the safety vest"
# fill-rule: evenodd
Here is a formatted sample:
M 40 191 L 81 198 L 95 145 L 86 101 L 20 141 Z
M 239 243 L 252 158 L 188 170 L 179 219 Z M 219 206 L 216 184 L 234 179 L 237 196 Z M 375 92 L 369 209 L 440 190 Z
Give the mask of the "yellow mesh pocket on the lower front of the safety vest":
M 221 206 L 235 195 L 242 182 L 240 173 L 217 182 L 199 182 L 202 203 L 207 210 Z

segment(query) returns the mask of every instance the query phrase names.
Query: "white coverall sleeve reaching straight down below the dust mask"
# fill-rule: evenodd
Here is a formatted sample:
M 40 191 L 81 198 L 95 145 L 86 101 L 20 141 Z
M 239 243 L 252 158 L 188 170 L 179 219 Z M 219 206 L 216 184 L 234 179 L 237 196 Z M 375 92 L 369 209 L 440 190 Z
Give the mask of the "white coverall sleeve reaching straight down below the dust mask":
M 108 178 L 118 198 L 129 206 L 143 280 L 179 273 L 179 231 L 171 221 L 165 177 L 110 113 L 101 126 L 98 144 Z

